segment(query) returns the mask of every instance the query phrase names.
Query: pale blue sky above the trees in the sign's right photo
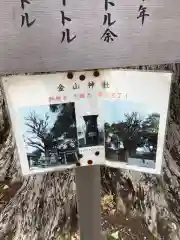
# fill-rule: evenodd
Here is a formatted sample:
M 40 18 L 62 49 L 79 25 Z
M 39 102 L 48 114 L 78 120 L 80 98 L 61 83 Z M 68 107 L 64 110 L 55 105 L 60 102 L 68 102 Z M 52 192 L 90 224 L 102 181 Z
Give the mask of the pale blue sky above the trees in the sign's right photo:
M 131 101 L 110 101 L 105 100 L 103 104 L 105 122 L 109 124 L 118 123 L 125 120 L 124 114 L 138 112 L 142 118 L 147 117 L 154 111 L 147 105 Z

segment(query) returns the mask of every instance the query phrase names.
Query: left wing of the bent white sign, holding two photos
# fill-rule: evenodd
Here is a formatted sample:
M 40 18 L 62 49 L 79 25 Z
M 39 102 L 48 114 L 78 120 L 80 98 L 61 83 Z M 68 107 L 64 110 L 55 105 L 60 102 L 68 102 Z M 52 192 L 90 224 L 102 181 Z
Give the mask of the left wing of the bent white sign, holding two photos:
M 74 168 L 77 163 L 86 166 L 88 160 L 104 162 L 103 87 L 98 74 L 3 77 L 24 175 Z

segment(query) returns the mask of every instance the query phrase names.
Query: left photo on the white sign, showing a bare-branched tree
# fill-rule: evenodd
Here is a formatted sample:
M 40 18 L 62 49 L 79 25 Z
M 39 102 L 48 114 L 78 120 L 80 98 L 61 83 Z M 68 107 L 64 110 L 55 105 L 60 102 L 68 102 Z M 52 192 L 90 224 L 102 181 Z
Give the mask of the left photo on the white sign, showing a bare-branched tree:
M 74 103 L 20 110 L 30 169 L 73 164 L 78 159 Z

